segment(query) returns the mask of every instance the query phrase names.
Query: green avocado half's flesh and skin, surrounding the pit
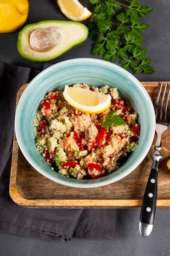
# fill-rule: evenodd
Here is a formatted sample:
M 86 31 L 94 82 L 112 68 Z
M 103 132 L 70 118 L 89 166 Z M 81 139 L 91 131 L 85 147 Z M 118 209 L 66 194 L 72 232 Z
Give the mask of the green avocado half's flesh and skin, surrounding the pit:
M 60 40 L 52 49 L 45 52 L 37 52 L 31 47 L 30 36 L 34 31 L 57 31 Z M 76 21 L 65 20 L 44 20 L 29 24 L 23 27 L 18 34 L 17 49 L 19 54 L 34 63 L 43 63 L 51 61 L 69 50 L 82 45 L 88 37 L 88 28 Z M 48 38 L 47 40 L 48 41 Z M 48 47 L 47 47 L 48 48 Z

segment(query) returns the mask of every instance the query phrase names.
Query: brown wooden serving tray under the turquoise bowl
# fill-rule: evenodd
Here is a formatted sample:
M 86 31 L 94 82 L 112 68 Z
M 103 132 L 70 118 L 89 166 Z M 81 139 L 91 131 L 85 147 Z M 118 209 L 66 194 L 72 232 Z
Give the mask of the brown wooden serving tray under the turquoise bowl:
M 160 82 L 141 82 L 155 103 Z M 168 82 L 170 84 L 170 82 Z M 18 91 L 17 103 L 26 85 Z M 162 159 L 159 162 L 157 208 L 170 208 L 170 130 L 162 137 Z M 147 138 L 146 138 L 147 139 Z M 129 175 L 107 186 L 79 189 L 60 185 L 42 176 L 24 158 L 14 134 L 10 178 L 13 201 L 25 208 L 141 208 L 152 166 L 153 145 L 144 161 Z

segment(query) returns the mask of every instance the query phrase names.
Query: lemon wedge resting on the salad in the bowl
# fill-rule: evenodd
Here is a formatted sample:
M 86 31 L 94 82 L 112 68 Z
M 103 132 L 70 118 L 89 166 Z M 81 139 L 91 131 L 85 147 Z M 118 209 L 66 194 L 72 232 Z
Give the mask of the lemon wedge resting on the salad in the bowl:
M 91 90 L 65 86 L 64 99 L 77 110 L 88 114 L 99 114 L 111 105 L 110 94 L 93 92 Z

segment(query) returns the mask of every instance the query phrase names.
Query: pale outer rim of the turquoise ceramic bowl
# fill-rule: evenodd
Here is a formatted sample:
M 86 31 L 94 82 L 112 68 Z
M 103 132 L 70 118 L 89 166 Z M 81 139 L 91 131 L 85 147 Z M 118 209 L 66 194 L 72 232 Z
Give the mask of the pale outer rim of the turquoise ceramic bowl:
M 150 103 L 150 107 L 151 107 L 150 108 L 150 113 L 151 113 L 150 114 L 150 119 L 152 121 L 153 126 L 152 126 L 152 130 L 150 130 L 150 138 L 147 141 L 148 142 L 147 147 L 145 146 L 146 152 L 143 153 L 143 155 L 141 155 L 140 160 L 138 159 L 137 162 L 133 163 L 132 167 L 131 166 L 128 167 L 124 173 L 119 173 L 117 176 L 115 176 L 113 178 L 110 176 L 111 174 L 109 174 L 109 175 L 106 175 L 104 177 L 100 177 L 100 178 L 93 179 L 93 180 L 88 180 L 88 181 L 91 181 L 91 183 L 84 183 L 84 180 L 78 180 L 78 182 L 72 182 L 72 181 L 77 181 L 77 179 L 72 179 L 72 178 L 66 177 L 67 178 L 67 180 L 66 180 L 65 178 L 58 179 L 57 177 L 53 177 L 49 173 L 44 171 L 42 168 L 40 168 L 38 166 L 38 164 L 33 159 L 31 159 L 29 157 L 29 155 L 27 153 L 27 150 L 24 147 L 24 145 L 22 143 L 22 140 L 20 139 L 20 132 L 19 132 L 20 124 L 18 124 L 17 120 L 18 120 L 18 117 L 20 115 L 19 110 L 20 110 L 20 107 L 22 106 L 22 102 L 23 102 L 22 99 L 24 97 L 26 97 L 27 92 L 29 92 L 30 88 L 34 86 L 36 81 L 38 81 L 39 79 L 44 77 L 46 75 L 46 73 L 53 72 L 54 70 L 56 70 L 57 68 L 60 68 L 61 66 L 65 65 L 65 64 L 73 65 L 73 62 L 74 62 L 74 64 L 77 64 L 77 65 L 79 63 L 89 63 L 90 62 L 91 64 L 99 63 L 99 65 L 106 65 L 109 68 L 113 67 L 113 69 L 117 70 L 117 72 L 121 72 L 124 75 L 128 75 L 128 78 L 133 83 L 135 83 L 138 86 L 138 88 L 140 88 L 141 92 L 143 93 L 143 95 L 147 99 L 147 102 Z M 149 96 L 148 92 L 146 91 L 146 89 L 144 88 L 144 86 L 140 83 L 140 81 L 135 76 L 130 74 L 130 72 L 128 72 L 127 70 L 124 70 L 119 65 L 116 65 L 115 63 L 110 63 L 108 61 L 100 60 L 100 59 L 97 59 L 97 58 L 72 58 L 72 59 L 69 59 L 69 60 L 66 60 L 66 61 L 61 61 L 59 63 L 55 63 L 55 64 L 51 65 L 50 67 L 47 67 L 45 70 L 40 72 L 37 76 L 35 76 L 35 78 L 33 78 L 31 80 L 29 85 L 27 85 L 26 89 L 24 90 L 24 92 L 22 93 L 22 95 L 20 97 L 20 100 L 18 101 L 18 106 L 17 106 L 16 112 L 15 112 L 15 135 L 16 135 L 16 139 L 18 141 L 18 145 L 19 145 L 19 147 L 22 151 L 22 154 L 24 155 L 26 160 L 31 164 L 31 166 L 33 166 L 33 168 L 35 168 L 36 171 L 38 171 L 39 173 L 41 173 L 45 177 L 49 178 L 50 180 L 53 180 L 54 182 L 57 182 L 57 183 L 62 184 L 62 185 L 77 187 L 77 188 L 93 188 L 93 187 L 97 187 L 97 186 L 105 186 L 105 185 L 111 184 L 113 182 L 116 182 L 118 180 L 121 180 L 123 177 L 127 176 L 129 173 L 134 171 L 135 168 L 137 168 L 137 166 L 139 166 L 139 164 L 144 160 L 148 151 L 150 150 L 150 147 L 152 145 L 152 141 L 153 141 L 154 136 L 155 136 L 155 111 L 154 111 L 153 104 L 151 104 L 151 103 L 152 103 L 152 101 L 150 99 L 150 96 Z M 110 178 L 106 178 L 107 176 L 110 176 Z M 61 177 L 62 177 L 62 175 L 61 175 Z

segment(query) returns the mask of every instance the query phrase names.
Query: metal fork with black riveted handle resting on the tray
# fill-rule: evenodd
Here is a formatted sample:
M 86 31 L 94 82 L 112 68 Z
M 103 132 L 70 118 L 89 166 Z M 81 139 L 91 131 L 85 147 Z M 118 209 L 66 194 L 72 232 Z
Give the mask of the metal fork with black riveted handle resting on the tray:
M 161 82 L 159 92 L 157 95 L 155 103 L 155 117 L 156 117 L 156 133 L 157 140 L 155 143 L 155 152 L 151 155 L 153 158 L 152 169 L 148 178 L 146 185 L 146 190 L 144 193 L 143 204 L 141 208 L 139 231 L 141 236 L 147 237 L 152 232 L 153 223 L 155 219 L 155 210 L 157 203 L 157 175 L 158 175 L 158 162 L 162 158 L 159 151 L 161 150 L 161 136 L 165 132 L 170 124 L 170 107 L 168 108 L 168 101 L 170 97 L 170 86 L 168 94 L 166 97 L 166 102 L 164 103 L 164 98 L 166 94 L 167 83 L 163 90 L 163 94 L 160 100 L 161 90 L 163 82 Z M 160 106 L 159 106 L 160 105 Z

